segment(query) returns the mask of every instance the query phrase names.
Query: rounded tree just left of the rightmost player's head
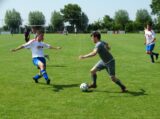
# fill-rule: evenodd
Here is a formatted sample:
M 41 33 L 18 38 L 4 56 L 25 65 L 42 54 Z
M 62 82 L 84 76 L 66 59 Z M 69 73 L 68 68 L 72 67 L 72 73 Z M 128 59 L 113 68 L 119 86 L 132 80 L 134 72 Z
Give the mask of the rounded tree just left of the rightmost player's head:
M 146 9 L 140 9 L 137 10 L 135 22 L 139 30 L 143 30 L 147 22 L 152 22 L 152 18 Z

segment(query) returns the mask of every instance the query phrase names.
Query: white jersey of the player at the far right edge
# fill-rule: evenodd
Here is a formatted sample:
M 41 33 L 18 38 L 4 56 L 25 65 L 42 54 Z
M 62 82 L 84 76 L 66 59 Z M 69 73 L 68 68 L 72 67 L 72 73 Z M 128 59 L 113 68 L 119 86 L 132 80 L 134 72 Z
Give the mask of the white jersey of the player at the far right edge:
M 155 39 L 155 32 L 153 30 L 148 31 L 147 29 L 145 30 L 145 38 L 146 38 L 146 45 L 151 45 L 154 44 L 154 39 Z

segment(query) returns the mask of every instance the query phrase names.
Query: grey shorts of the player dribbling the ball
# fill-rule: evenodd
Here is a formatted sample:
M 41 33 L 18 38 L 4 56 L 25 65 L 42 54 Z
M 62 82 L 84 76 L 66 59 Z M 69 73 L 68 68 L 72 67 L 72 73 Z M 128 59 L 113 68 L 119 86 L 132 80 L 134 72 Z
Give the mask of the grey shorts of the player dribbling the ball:
M 98 71 L 106 69 L 106 71 L 110 76 L 115 76 L 115 60 L 114 59 L 108 63 L 105 63 L 102 60 L 100 60 L 94 67 L 96 67 Z

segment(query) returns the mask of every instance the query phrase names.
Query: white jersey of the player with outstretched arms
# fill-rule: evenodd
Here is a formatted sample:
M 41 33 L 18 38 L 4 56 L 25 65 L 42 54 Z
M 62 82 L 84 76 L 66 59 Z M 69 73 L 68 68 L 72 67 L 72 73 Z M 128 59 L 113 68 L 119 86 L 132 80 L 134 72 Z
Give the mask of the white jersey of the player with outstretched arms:
M 49 48 L 50 45 L 46 44 L 44 42 L 38 42 L 37 40 L 33 39 L 33 40 L 30 40 L 29 42 L 25 43 L 23 45 L 23 47 L 26 49 L 28 49 L 28 48 L 31 49 L 32 58 L 35 58 L 35 57 L 44 57 L 43 49 Z

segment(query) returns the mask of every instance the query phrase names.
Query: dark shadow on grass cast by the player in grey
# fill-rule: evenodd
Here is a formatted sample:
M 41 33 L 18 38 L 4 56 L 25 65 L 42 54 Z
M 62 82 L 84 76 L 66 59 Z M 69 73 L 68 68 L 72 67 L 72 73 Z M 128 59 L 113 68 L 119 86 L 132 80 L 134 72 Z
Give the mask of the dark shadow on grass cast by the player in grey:
M 148 95 L 148 94 L 146 94 L 146 91 L 144 89 L 139 89 L 139 91 L 127 91 L 125 93 L 122 93 L 122 92 L 111 92 L 111 91 L 96 91 L 96 92 L 130 94 L 132 96 L 144 96 L 144 95 Z

